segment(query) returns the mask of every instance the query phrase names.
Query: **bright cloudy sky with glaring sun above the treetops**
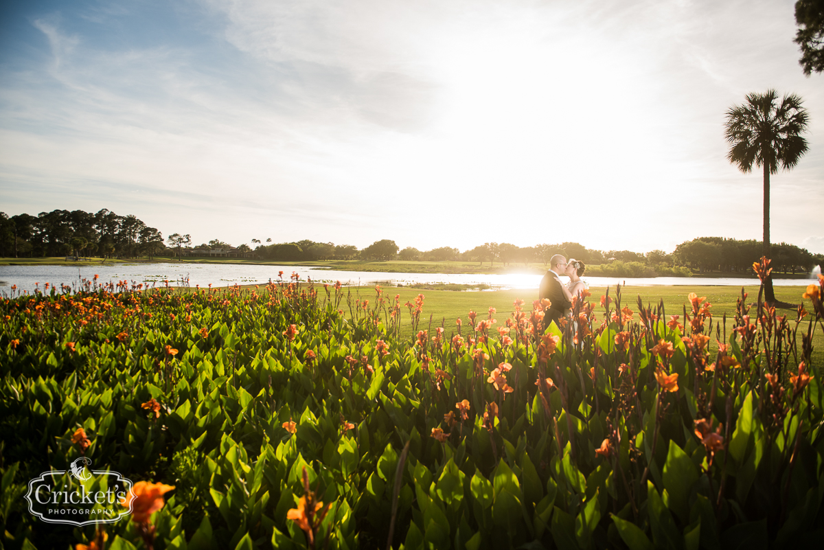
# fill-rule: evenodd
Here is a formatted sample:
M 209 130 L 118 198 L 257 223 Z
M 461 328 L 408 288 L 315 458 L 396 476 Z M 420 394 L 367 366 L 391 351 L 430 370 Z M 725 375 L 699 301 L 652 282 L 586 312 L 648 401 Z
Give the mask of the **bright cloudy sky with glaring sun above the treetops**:
M 824 75 L 795 31 L 794 0 L 2 2 L 0 210 L 193 244 L 760 240 L 723 124 L 775 88 L 810 123 L 771 240 L 824 253 Z

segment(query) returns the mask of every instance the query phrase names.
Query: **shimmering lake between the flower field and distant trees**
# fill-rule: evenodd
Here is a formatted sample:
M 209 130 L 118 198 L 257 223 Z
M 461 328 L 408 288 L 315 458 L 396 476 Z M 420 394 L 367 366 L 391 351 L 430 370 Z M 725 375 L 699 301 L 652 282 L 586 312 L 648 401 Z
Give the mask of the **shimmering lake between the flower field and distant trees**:
M 0 266 L 0 293 L 9 295 L 11 286 L 17 291 L 35 291 L 35 283 L 40 289 L 48 282 L 49 287 L 57 285 L 75 286 L 83 279 L 99 275 L 99 282 L 128 281 L 129 284 L 143 283 L 144 286 L 162 287 L 164 280 L 170 285 L 180 285 L 188 278 L 190 287 L 226 287 L 235 284 L 266 284 L 269 280 L 277 281 L 278 272 L 283 271 L 283 278 L 297 273 L 302 281 L 311 277 L 315 282 L 340 281 L 349 285 L 406 286 L 415 283 L 458 283 L 465 285 L 485 284 L 494 290 L 509 288 L 535 289 L 541 282 L 542 275 L 534 273 L 506 274 L 465 274 L 465 273 L 377 273 L 357 271 L 335 271 L 308 266 L 277 266 L 255 264 L 226 263 L 136 263 L 117 265 L 88 265 L 82 267 L 61 265 L 13 265 Z M 591 287 L 614 287 L 617 284 L 630 287 L 651 287 L 660 285 L 677 285 L 685 287 L 729 286 L 742 287 L 758 284 L 758 279 L 735 277 L 583 277 Z M 801 286 L 808 284 L 806 279 L 775 279 L 775 286 Z

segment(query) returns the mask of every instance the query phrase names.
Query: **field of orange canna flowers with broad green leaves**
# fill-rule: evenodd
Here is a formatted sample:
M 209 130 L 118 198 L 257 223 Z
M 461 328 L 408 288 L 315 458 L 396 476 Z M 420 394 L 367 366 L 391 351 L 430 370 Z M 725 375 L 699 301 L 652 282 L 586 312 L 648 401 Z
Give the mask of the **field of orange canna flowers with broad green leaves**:
M 423 295 L 380 287 L 68 290 L 0 301 L 0 548 L 692 550 L 824 534 L 810 362 L 824 277 L 792 318 L 761 296 L 714 319 L 695 294 L 685 315 L 619 288 L 546 333 L 540 302 L 438 326 Z M 130 519 L 30 514 L 29 480 L 81 457 L 137 482 Z

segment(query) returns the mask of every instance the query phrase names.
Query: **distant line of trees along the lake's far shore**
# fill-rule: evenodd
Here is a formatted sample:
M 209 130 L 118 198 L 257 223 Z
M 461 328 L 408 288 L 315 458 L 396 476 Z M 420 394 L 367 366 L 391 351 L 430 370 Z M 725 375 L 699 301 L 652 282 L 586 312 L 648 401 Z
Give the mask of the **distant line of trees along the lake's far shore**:
M 254 247 L 254 248 L 252 248 Z M 162 233 L 149 227 L 137 217 L 119 216 L 102 209 L 99 212 L 82 210 L 54 210 L 37 216 L 19 214 L 9 217 L 0 212 L 0 255 L 9 257 L 46 257 L 73 254 L 98 257 L 196 255 L 206 250 L 234 249 L 240 253 L 254 253 L 258 259 L 271 261 L 313 260 L 391 260 L 406 261 L 464 261 L 481 265 L 500 263 L 504 266 L 542 263 L 547 266 L 555 254 L 564 254 L 589 265 L 615 262 L 644 265 L 652 268 L 688 267 L 700 272 L 724 271 L 749 273 L 753 262 L 761 257 L 761 240 L 736 240 L 723 237 L 699 237 L 677 245 L 668 254 L 651 250 L 645 254 L 632 250 L 589 249 L 575 242 L 517 246 L 511 243 L 488 242 L 461 252 L 442 246 L 419 250 L 412 246 L 400 249 L 394 240 L 377 240 L 364 249 L 354 245 L 335 245 L 331 242 L 298 240 L 274 243 L 250 240 L 250 244 L 232 247 L 219 239 L 192 245 L 190 235 L 173 233 L 166 240 Z M 772 245 L 773 266 L 777 272 L 809 271 L 824 263 L 824 255 L 812 254 L 796 245 Z

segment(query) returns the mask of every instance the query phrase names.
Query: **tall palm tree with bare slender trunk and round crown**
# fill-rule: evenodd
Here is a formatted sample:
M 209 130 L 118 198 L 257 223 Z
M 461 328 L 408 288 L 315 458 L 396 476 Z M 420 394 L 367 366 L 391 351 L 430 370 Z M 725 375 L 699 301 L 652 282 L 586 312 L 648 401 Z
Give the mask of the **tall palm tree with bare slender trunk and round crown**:
M 790 170 L 807 152 L 807 140 L 801 133 L 807 130 L 808 112 L 795 94 L 779 100 L 775 90 L 763 94 L 747 94 L 744 105 L 734 105 L 727 111 L 724 136 L 730 144 L 728 161 L 745 174 L 752 165 L 764 170 L 764 255 L 770 258 L 770 174 L 779 165 Z M 775 304 L 772 279 L 767 277 L 765 301 Z

